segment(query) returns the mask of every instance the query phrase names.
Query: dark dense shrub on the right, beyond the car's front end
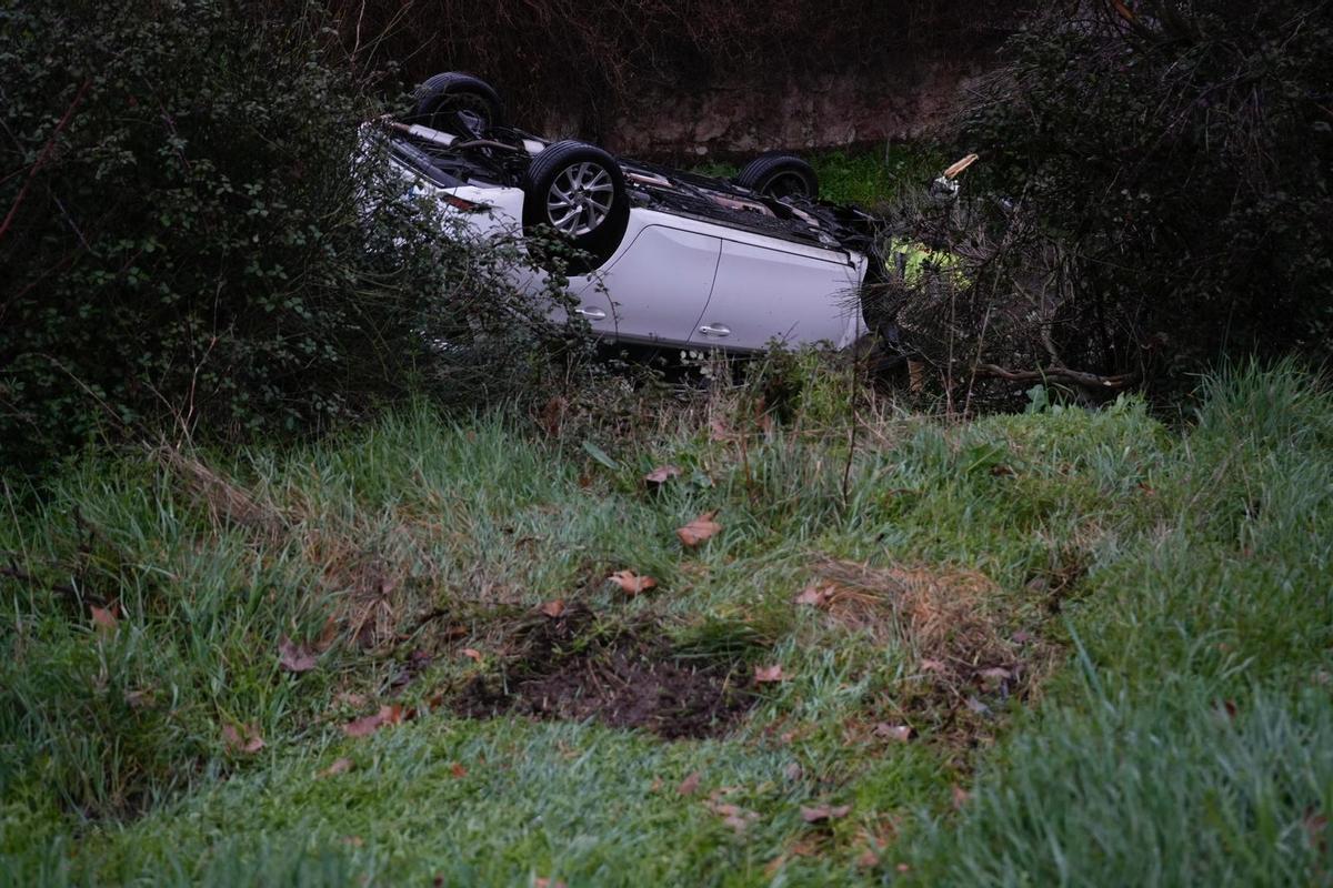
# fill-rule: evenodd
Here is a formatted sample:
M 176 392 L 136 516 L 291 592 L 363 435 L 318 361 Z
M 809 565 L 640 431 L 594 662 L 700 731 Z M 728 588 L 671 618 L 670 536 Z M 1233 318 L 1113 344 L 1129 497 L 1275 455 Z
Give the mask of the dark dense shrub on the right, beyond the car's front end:
M 966 129 L 1046 244 L 1044 351 L 1148 379 L 1328 354 L 1330 47 L 1301 0 L 1057 3 L 1008 43 Z

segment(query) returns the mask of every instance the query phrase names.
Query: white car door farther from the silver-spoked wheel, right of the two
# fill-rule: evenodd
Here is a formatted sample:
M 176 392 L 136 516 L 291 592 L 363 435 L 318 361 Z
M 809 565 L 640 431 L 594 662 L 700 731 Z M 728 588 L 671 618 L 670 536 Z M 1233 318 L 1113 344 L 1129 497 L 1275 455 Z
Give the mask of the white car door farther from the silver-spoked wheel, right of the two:
M 845 253 L 774 241 L 724 240 L 696 347 L 762 349 L 770 339 L 840 342 L 854 312 L 856 268 Z

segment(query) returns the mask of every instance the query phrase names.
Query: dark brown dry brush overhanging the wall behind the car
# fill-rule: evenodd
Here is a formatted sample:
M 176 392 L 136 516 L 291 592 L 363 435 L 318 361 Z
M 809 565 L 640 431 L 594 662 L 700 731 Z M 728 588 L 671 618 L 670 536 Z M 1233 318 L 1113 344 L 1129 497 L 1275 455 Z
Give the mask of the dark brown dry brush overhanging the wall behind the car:
M 876 80 L 905 57 L 994 49 L 1032 3 L 981 0 L 329 0 L 343 44 L 400 65 L 484 75 L 519 121 L 583 121 L 599 138 L 644 92 Z M 384 35 L 376 40 L 376 35 Z

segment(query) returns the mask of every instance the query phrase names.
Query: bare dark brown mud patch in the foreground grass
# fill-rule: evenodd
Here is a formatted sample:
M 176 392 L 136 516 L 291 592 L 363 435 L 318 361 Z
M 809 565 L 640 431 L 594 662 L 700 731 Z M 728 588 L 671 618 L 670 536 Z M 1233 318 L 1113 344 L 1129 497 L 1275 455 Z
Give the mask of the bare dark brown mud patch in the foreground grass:
M 451 708 L 469 718 L 595 719 L 678 740 L 726 734 L 757 700 L 742 660 L 681 656 L 647 627 L 599 634 L 575 612 L 525 640 L 524 656 L 501 675 L 473 679 Z

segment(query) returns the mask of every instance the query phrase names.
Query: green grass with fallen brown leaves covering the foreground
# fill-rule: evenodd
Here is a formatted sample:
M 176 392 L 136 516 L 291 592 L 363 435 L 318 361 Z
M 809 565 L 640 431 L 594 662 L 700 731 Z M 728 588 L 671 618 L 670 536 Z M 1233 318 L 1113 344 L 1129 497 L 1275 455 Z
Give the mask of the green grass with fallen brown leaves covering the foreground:
M 860 401 L 850 434 L 845 374 L 774 366 L 786 422 L 757 411 L 760 371 L 576 403 L 556 434 L 421 405 L 305 450 L 91 458 L 7 491 L 0 881 L 1333 872 L 1328 393 L 1238 370 L 1184 431 L 1133 399 L 970 423 Z M 722 531 L 682 547 L 714 509 Z M 660 584 L 628 598 L 624 568 Z M 806 587 L 826 608 L 793 603 Z M 785 680 L 712 738 L 461 718 L 477 676 L 540 666 L 556 599 L 595 630 L 547 658 L 593 670 L 589 632 L 652 632 Z M 313 670 L 280 667 L 283 636 L 327 626 Z M 384 704 L 416 718 L 341 731 Z M 808 823 L 821 804 L 850 811 Z

